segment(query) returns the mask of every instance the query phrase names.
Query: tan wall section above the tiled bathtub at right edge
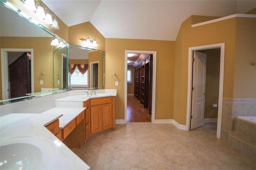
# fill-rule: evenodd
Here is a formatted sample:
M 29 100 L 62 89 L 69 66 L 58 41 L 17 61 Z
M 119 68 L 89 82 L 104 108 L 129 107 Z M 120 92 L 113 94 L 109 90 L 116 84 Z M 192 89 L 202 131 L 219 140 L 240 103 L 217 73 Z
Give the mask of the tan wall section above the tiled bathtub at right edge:
M 236 18 L 233 98 L 256 98 L 256 18 Z

